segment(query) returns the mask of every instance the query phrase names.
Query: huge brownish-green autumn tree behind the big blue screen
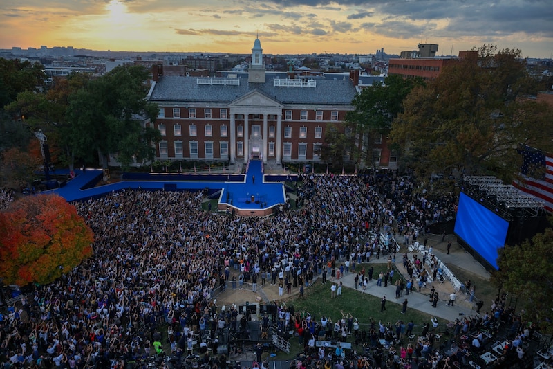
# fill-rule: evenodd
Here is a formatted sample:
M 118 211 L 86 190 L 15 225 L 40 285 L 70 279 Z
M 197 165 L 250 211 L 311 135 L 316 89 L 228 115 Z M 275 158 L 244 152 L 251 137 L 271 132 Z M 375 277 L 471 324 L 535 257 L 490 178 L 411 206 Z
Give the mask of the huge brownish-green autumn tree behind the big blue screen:
M 415 87 L 390 136 L 404 150 L 403 163 L 421 176 L 459 170 L 509 181 L 518 171 L 518 144 L 552 145 L 552 108 L 523 98 L 535 92 L 521 51 L 496 53 L 485 45 L 478 57 L 451 62 L 438 78 Z

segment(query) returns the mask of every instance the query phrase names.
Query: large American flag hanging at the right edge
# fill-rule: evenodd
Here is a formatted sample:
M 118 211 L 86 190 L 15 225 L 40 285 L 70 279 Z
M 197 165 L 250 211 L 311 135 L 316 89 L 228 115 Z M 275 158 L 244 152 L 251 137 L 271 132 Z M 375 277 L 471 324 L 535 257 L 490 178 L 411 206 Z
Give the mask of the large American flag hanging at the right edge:
M 522 181 L 514 181 L 513 186 L 527 195 L 543 201 L 545 210 L 553 212 L 553 156 L 532 147 L 522 147 Z

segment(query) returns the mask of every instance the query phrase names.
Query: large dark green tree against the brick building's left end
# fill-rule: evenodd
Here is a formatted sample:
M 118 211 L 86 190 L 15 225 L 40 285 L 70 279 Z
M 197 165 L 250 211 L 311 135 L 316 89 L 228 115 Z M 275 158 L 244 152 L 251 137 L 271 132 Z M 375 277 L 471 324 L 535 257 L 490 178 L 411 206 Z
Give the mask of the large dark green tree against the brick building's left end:
M 116 155 L 123 166 L 133 159 L 151 161 L 155 156 L 151 143 L 160 140 L 160 132 L 143 125 L 144 119 L 153 122 L 158 114 L 157 105 L 145 99 L 148 77 L 142 66 L 119 66 L 73 93 L 66 145 L 87 160 L 97 152 L 103 168 L 109 154 Z

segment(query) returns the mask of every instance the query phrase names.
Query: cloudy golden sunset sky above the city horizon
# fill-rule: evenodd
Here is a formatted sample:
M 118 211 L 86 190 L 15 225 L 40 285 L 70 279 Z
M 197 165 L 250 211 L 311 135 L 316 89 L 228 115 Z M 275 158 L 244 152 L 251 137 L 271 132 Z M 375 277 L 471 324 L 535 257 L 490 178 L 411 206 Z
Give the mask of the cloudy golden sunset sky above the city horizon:
M 437 55 L 495 44 L 525 57 L 553 53 L 543 0 L 8 0 L 0 48 L 73 46 L 137 52 L 388 54 L 439 44 Z

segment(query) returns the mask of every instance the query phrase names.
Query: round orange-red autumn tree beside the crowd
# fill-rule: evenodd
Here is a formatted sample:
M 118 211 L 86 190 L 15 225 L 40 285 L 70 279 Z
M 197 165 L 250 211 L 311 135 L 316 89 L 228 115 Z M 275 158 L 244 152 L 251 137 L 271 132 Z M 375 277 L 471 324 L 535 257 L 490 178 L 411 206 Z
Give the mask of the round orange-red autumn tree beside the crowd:
M 46 284 L 93 253 L 93 232 L 57 195 L 13 202 L 0 213 L 0 278 L 6 285 Z

